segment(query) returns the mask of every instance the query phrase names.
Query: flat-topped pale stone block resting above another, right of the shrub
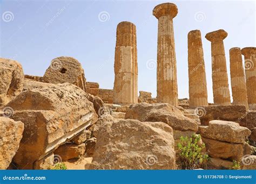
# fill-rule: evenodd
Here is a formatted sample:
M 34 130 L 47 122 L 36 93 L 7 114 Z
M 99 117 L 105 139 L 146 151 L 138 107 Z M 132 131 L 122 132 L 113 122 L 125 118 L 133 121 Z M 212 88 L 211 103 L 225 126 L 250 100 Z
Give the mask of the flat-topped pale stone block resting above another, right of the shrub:
M 235 122 L 213 120 L 208 126 L 199 126 L 202 137 L 227 141 L 230 143 L 245 143 L 251 131 Z

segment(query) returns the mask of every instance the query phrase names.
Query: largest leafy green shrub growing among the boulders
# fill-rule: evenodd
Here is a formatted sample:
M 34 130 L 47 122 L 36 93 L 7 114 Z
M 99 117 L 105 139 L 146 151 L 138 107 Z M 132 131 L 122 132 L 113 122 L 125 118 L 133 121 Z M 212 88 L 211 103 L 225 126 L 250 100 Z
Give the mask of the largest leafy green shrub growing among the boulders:
M 180 151 L 181 169 L 196 169 L 205 164 L 208 160 L 208 154 L 202 153 L 205 148 L 204 143 L 200 143 L 201 136 L 193 135 L 192 137 L 180 137 L 178 150 Z

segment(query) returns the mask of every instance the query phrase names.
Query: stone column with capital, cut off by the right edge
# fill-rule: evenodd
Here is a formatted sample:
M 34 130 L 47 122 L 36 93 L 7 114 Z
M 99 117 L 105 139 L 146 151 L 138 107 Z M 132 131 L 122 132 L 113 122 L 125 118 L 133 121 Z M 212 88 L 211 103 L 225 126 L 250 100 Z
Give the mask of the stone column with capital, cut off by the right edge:
M 245 56 L 247 98 L 250 109 L 256 110 L 256 47 L 242 49 Z

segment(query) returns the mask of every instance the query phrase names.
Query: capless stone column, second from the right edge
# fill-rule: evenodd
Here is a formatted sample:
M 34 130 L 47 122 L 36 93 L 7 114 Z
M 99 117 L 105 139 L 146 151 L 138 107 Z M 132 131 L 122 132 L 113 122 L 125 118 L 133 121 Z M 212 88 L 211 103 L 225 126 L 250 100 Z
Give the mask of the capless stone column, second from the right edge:
M 230 49 L 230 76 L 233 104 L 242 104 L 248 109 L 245 72 L 239 47 Z

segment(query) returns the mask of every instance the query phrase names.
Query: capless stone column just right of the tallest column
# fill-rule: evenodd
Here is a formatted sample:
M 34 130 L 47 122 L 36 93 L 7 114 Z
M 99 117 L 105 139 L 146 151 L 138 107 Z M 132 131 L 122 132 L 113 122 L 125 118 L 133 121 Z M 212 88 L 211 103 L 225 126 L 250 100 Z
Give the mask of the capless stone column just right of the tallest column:
M 208 105 L 204 52 L 199 30 L 190 31 L 188 42 L 188 79 L 190 107 Z

